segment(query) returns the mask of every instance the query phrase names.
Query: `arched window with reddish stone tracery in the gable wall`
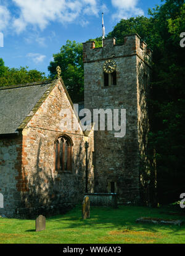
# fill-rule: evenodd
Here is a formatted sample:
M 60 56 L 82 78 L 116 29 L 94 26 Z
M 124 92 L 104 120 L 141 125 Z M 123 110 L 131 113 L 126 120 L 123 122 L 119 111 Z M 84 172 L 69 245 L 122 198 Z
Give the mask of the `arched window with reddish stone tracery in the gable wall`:
M 67 136 L 55 141 L 55 170 L 72 171 L 72 141 Z

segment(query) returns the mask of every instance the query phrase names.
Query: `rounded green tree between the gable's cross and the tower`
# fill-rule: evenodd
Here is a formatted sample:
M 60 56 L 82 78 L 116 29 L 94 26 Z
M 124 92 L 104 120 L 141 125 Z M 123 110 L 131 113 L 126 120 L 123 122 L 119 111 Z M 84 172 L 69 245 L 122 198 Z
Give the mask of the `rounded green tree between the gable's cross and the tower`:
M 56 77 L 56 68 L 60 66 L 62 79 L 73 102 L 83 101 L 83 47 L 81 43 L 67 40 L 60 53 L 53 54 L 54 61 L 48 67 L 50 77 Z

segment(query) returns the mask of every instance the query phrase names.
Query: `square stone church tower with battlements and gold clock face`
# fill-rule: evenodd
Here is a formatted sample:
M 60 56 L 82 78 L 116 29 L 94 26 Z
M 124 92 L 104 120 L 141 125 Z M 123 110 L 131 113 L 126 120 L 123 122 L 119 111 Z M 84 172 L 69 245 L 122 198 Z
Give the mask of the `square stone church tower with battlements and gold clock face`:
M 120 203 L 138 203 L 147 181 L 147 95 L 151 51 L 137 34 L 83 43 L 84 108 L 126 109 L 126 134 L 94 131 L 94 192 L 117 193 Z M 119 119 L 121 117 L 119 116 Z M 106 120 L 106 119 L 105 119 Z M 120 121 L 120 120 L 119 120 Z M 106 122 L 106 121 L 105 121 Z

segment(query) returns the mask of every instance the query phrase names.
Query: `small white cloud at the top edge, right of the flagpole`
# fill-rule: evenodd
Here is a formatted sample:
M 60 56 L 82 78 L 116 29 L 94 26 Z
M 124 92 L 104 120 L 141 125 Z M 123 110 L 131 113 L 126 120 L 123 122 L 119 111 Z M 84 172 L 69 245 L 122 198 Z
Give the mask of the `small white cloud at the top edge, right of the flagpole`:
M 113 19 L 127 19 L 131 16 L 144 15 L 144 11 L 137 7 L 138 0 L 111 0 L 112 6 L 117 12 L 112 15 Z

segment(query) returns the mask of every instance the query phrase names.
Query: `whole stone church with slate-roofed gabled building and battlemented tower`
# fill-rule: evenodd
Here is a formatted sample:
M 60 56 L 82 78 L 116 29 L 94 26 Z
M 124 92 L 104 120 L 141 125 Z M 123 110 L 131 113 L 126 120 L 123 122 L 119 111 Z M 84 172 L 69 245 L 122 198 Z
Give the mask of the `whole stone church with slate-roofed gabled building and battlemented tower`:
M 83 130 L 61 78 L 0 89 L 0 193 L 6 216 L 62 213 L 84 192 L 116 193 L 118 203 L 146 202 L 151 51 L 139 35 L 83 44 L 84 108 L 126 109 L 126 134 Z M 70 109 L 78 129 L 64 126 Z

